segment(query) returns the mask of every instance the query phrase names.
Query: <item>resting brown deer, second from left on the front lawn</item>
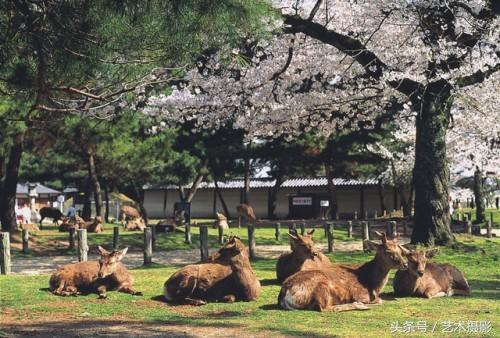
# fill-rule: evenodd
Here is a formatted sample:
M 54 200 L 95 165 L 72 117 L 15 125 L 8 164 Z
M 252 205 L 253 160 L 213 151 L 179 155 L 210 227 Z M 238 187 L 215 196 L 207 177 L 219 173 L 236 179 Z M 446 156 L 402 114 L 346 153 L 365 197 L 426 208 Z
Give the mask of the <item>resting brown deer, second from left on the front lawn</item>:
M 187 265 L 170 276 L 164 285 L 167 301 L 188 305 L 252 301 L 259 293 L 260 283 L 250 265 L 247 248 L 238 237 L 230 237 L 210 257 L 209 263 Z

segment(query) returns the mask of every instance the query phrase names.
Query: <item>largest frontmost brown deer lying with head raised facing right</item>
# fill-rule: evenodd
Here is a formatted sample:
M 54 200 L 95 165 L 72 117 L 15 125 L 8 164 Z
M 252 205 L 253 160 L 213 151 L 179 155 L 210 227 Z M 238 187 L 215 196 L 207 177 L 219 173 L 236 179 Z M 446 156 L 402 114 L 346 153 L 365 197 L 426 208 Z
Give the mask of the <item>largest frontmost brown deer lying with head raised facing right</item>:
M 278 305 L 287 310 L 348 311 L 366 310 L 366 304 L 381 304 L 380 291 L 390 269 L 408 266 L 408 251 L 376 232 L 382 244 L 365 241 L 375 257 L 364 264 L 333 264 L 321 270 L 299 271 L 285 280 Z

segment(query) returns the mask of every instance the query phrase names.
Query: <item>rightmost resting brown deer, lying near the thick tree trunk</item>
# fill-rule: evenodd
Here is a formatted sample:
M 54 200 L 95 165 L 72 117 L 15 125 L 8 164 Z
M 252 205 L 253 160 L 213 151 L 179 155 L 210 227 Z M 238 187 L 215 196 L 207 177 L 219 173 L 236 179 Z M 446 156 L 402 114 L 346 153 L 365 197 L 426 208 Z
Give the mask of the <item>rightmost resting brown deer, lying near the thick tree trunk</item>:
M 470 288 L 462 272 L 450 264 L 427 262 L 437 249 L 412 250 L 408 257 L 408 270 L 396 272 L 393 280 L 396 296 L 435 298 L 444 296 L 470 296 Z

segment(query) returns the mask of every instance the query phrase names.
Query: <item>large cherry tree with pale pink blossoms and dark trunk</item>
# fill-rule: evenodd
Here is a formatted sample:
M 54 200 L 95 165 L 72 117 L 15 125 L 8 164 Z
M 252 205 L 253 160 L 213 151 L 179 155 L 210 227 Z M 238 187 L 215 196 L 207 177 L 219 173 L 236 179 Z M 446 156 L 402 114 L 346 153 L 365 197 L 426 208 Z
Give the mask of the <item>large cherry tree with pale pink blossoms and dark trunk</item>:
M 456 99 L 491 85 L 500 67 L 494 1 L 274 1 L 283 35 L 248 41 L 231 60 L 200 59 L 170 96 L 146 109 L 212 128 L 231 120 L 249 137 L 329 134 L 381 111 L 414 114 L 412 242 L 453 241 L 446 133 Z M 279 24 L 279 23 L 278 23 Z M 271 27 L 272 28 L 272 27 Z M 481 100 L 495 91 L 479 88 Z M 403 108 L 404 107 L 404 108 Z M 494 110 L 484 107 L 484 114 Z M 475 118 L 477 118 L 477 114 Z

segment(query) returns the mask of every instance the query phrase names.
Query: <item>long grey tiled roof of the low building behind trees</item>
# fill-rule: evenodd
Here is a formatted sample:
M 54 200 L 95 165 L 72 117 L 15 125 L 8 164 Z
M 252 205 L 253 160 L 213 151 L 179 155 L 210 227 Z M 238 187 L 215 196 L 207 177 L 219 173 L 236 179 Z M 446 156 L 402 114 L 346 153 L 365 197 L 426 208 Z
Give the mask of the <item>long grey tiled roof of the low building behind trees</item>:
M 275 180 L 270 179 L 251 179 L 250 188 L 271 188 L 275 184 Z M 218 182 L 220 189 L 241 189 L 245 186 L 244 180 L 228 180 L 225 182 Z M 355 180 L 355 179 L 343 179 L 334 178 L 333 184 L 335 186 L 359 186 L 359 185 L 376 185 L 377 180 L 370 178 L 366 180 Z M 282 188 L 299 188 L 299 187 L 323 187 L 327 186 L 328 182 L 326 177 L 315 177 L 315 178 L 291 178 L 283 182 Z M 190 185 L 185 186 L 189 188 Z M 146 190 L 158 190 L 158 189 L 177 189 L 176 185 L 157 185 L 157 186 L 146 186 Z M 215 188 L 214 182 L 202 182 L 198 189 L 213 189 Z

